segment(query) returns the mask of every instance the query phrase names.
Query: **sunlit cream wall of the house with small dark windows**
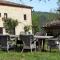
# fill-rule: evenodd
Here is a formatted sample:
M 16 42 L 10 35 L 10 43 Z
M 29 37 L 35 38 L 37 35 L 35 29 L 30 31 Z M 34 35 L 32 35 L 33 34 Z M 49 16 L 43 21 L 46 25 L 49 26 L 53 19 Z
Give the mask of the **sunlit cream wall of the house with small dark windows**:
M 31 7 L 24 6 L 24 5 L 10 5 L 9 4 L 2 4 L 0 3 L 0 27 L 3 28 L 3 34 L 6 34 L 5 28 L 3 26 L 3 20 L 4 13 L 7 14 L 8 18 L 17 19 L 18 20 L 18 26 L 15 28 L 16 35 L 19 35 L 20 32 L 24 31 L 25 25 L 32 25 L 32 18 L 31 18 Z M 24 15 L 26 15 L 26 20 L 24 20 Z M 32 29 L 30 30 L 32 33 Z

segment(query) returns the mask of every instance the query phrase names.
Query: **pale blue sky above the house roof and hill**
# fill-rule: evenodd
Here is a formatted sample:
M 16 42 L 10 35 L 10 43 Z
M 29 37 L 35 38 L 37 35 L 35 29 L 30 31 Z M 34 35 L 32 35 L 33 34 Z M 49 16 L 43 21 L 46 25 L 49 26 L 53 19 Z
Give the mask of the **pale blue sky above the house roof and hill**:
M 19 0 L 8 0 L 8 1 L 32 6 L 34 11 L 41 11 L 41 12 L 54 12 L 58 7 L 57 6 L 58 0 L 50 0 L 50 1 L 46 0 L 46 2 L 44 2 L 44 0 L 42 0 L 42 1 L 22 0 L 21 2 Z

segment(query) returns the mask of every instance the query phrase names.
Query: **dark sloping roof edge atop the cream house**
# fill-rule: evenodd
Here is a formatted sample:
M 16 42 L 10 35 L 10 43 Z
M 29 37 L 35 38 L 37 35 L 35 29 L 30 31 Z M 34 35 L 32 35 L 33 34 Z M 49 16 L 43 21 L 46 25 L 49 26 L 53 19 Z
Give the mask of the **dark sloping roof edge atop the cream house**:
M 23 5 L 23 4 L 18 4 L 10 1 L 1 1 L 0 0 L 0 5 L 8 5 L 8 6 L 14 6 L 14 7 L 23 7 L 23 8 L 32 8 L 31 6 Z

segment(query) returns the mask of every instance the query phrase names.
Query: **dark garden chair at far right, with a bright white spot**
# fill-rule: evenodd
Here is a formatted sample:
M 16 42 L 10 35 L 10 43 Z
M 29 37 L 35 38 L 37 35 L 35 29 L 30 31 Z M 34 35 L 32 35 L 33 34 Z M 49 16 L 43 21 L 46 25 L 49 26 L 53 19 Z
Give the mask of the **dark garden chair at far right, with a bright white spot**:
M 48 39 L 48 49 L 50 49 L 50 52 L 52 49 L 59 49 L 58 38 Z

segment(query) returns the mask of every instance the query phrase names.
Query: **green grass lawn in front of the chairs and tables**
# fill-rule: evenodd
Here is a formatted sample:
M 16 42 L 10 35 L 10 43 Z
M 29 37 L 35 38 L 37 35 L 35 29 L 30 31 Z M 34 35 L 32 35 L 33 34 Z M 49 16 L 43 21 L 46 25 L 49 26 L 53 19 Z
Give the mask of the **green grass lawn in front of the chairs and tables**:
M 4 52 L 0 51 L 0 60 L 60 60 L 60 52 Z

